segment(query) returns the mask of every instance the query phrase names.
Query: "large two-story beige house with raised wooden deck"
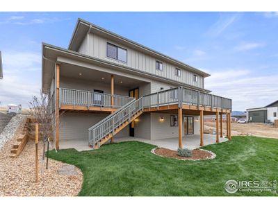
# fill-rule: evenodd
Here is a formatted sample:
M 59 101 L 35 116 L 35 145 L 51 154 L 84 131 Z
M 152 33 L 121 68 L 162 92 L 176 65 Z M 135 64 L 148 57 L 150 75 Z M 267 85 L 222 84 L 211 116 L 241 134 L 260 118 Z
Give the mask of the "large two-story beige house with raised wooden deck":
M 204 88 L 208 76 L 83 19 L 68 49 L 42 44 L 42 92 L 60 123 L 56 148 L 69 140 L 98 148 L 114 137 L 177 137 L 181 146 L 187 134 L 202 145 L 203 115 L 231 112 L 231 99 Z

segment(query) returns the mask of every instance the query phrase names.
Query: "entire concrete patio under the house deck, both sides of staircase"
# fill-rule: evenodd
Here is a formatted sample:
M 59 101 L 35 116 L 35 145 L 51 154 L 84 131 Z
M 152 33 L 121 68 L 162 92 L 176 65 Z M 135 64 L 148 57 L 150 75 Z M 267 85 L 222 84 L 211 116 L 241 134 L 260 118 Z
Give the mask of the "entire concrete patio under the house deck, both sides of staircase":
M 204 135 L 204 146 L 209 144 L 215 144 L 216 136 L 215 135 Z M 153 144 L 158 147 L 168 148 L 170 150 L 177 150 L 179 139 L 176 138 L 169 138 L 169 139 L 156 139 L 156 140 L 149 140 L 149 139 L 142 139 L 136 137 L 120 137 L 115 138 L 115 142 L 121 141 L 142 141 L 148 144 Z M 227 138 L 220 137 L 220 142 L 228 141 Z M 195 149 L 199 148 L 199 135 L 186 135 L 183 137 L 183 148 Z M 84 150 L 92 150 L 88 146 L 88 140 L 78 140 L 78 139 L 71 139 L 60 141 L 60 149 L 67 149 L 67 148 L 75 148 L 78 151 Z

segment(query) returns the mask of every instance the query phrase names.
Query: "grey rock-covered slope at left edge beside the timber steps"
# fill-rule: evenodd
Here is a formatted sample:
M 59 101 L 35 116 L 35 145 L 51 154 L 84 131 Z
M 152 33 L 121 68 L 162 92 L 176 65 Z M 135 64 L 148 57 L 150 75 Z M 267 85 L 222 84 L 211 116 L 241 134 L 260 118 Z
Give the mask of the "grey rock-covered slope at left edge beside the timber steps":
M 0 150 L 8 140 L 14 137 L 17 128 L 24 119 L 25 116 L 23 116 L 22 114 L 17 114 L 12 119 L 10 119 L 10 122 L 6 125 L 0 135 Z

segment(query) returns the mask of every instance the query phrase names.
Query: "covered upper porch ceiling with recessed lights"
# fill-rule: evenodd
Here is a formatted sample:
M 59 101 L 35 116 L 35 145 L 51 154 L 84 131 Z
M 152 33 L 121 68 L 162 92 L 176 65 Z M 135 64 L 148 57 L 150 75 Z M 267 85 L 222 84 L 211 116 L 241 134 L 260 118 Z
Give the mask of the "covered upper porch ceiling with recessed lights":
M 60 76 L 90 80 L 92 82 L 104 83 L 107 85 L 111 84 L 111 73 L 88 69 L 85 67 L 79 67 L 67 63 L 60 64 Z M 120 85 L 123 87 L 128 87 L 129 89 L 133 89 L 135 87 L 138 87 L 142 83 L 147 82 L 114 74 L 114 85 Z

